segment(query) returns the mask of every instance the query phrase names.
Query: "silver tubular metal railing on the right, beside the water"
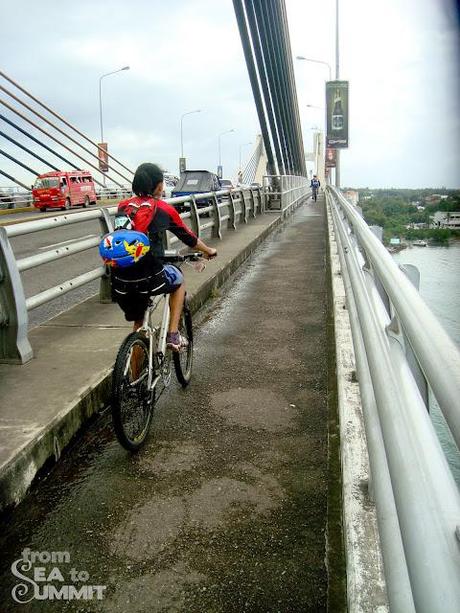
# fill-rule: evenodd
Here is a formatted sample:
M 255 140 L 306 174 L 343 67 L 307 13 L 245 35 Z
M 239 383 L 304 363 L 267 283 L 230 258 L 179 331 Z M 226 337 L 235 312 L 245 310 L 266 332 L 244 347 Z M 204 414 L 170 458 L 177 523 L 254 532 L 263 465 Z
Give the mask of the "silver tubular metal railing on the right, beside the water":
M 335 188 L 327 189 L 355 348 L 392 612 L 460 610 L 460 495 L 427 411 L 460 441 L 460 353 Z

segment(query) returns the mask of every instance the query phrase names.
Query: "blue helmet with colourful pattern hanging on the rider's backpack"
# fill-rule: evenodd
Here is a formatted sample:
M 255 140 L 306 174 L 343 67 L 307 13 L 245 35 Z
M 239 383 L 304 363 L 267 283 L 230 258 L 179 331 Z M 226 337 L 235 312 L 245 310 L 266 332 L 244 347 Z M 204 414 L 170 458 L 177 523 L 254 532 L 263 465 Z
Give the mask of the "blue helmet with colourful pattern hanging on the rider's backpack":
M 150 250 L 149 237 L 135 230 L 116 230 L 99 243 L 99 254 L 108 266 L 126 268 Z

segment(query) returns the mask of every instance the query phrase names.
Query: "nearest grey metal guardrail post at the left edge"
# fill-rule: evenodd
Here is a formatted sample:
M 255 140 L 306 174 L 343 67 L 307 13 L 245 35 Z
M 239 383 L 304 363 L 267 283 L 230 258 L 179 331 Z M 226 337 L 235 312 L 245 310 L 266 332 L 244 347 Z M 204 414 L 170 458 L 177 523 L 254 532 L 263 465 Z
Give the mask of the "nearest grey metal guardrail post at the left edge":
M 28 323 L 16 259 L 6 230 L 0 227 L 0 362 L 25 364 L 32 359 Z

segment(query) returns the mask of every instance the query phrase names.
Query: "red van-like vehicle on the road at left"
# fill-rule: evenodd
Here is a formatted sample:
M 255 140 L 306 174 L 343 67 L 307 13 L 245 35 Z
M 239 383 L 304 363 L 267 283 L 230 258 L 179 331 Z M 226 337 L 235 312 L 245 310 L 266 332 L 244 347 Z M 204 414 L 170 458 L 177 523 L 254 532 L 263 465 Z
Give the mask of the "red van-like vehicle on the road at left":
M 40 211 L 96 204 L 93 177 L 87 170 L 39 175 L 32 187 L 32 197 L 34 206 Z

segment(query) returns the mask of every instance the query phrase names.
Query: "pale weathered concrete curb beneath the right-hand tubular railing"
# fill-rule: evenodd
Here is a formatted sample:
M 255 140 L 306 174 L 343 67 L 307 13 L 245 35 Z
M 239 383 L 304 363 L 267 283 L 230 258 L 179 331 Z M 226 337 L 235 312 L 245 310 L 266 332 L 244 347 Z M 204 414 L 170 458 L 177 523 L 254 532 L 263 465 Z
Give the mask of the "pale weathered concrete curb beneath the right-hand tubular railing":
M 326 200 L 327 202 L 327 200 Z M 337 401 L 342 466 L 342 524 L 349 611 L 389 611 L 375 503 L 369 494 L 370 466 L 345 286 L 326 204 L 334 317 Z

